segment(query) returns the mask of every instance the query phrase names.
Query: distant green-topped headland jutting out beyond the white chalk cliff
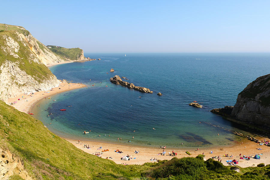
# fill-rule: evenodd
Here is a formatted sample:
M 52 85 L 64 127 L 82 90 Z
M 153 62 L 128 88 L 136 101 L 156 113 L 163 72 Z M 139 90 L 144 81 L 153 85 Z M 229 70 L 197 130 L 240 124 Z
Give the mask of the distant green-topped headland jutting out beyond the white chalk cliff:
M 49 50 L 51 50 L 56 55 L 60 56 L 64 59 L 70 59 L 70 60 L 78 60 L 78 58 L 82 55 L 82 49 L 80 48 L 64 48 L 60 46 L 52 46 L 48 45 L 47 47 Z

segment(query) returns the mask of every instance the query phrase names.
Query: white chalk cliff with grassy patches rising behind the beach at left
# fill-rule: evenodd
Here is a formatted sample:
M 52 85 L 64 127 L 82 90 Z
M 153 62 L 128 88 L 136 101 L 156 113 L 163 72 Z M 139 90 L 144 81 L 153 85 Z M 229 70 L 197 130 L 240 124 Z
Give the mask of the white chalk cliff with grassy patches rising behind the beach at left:
M 55 56 L 29 31 L 0 24 L 0 99 L 21 93 L 49 90 L 59 81 L 44 65 L 64 61 Z

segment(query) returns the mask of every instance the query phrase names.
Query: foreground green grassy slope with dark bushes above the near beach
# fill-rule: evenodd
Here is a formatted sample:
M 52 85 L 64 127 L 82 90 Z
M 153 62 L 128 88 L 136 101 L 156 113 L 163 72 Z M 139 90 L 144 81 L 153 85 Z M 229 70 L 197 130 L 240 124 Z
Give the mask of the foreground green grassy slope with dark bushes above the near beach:
M 41 121 L 0 101 L 0 145 L 20 157 L 36 179 L 268 179 L 270 166 L 240 173 L 202 155 L 144 165 L 118 165 L 87 154 L 50 132 Z M 238 167 L 238 166 L 237 166 Z M 12 179 L 19 179 L 15 174 Z

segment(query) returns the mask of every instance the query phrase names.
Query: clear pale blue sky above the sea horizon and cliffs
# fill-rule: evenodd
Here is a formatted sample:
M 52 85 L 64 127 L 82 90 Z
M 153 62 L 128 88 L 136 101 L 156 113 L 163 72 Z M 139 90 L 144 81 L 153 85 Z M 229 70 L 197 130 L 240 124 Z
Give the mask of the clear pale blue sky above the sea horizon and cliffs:
M 0 23 L 94 52 L 270 52 L 270 1 L 12 1 Z

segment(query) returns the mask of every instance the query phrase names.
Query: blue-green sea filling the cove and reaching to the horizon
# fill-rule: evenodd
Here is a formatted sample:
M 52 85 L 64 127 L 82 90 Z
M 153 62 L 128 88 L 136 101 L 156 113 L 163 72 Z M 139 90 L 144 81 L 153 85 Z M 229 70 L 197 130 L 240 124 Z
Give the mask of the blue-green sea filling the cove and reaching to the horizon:
M 50 67 L 58 79 L 88 88 L 40 101 L 35 117 L 57 135 L 73 139 L 176 148 L 230 145 L 238 140 L 231 131 L 240 130 L 210 110 L 234 105 L 238 93 L 270 69 L 269 53 L 124 55 L 85 54 L 101 60 Z M 115 72 L 109 72 L 111 68 Z M 153 94 L 112 84 L 114 75 L 125 76 Z M 188 105 L 194 100 L 203 108 Z M 59 111 L 62 108 L 67 110 Z

